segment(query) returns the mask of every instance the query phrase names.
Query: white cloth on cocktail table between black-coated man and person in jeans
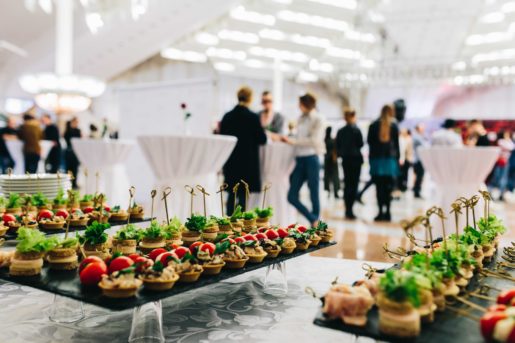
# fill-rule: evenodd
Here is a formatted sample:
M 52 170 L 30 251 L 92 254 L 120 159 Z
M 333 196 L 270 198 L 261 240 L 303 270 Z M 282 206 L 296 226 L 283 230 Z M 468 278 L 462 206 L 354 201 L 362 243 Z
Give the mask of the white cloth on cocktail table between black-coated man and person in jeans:
M 295 222 L 295 208 L 288 203 L 290 174 L 295 165 L 294 148 L 285 143 L 269 143 L 260 149 L 261 181 L 272 188 L 267 192 L 265 206 L 274 208 L 272 224 L 287 225 Z M 252 194 L 249 208 L 261 207 L 262 194 Z

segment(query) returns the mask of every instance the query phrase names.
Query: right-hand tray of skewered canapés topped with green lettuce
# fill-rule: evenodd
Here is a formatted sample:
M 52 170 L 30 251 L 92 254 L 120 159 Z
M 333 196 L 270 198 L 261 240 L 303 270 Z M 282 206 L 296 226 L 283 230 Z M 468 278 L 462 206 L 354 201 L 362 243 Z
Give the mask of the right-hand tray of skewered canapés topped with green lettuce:
M 515 244 L 497 252 L 506 227 L 490 214 L 490 195 L 481 194 L 485 208 L 477 221 L 478 196 L 453 203 L 453 234 L 446 234 L 441 208 L 405 221 L 410 249 L 384 246 L 399 262 L 387 270 L 366 265 L 366 277 L 352 285 L 335 280 L 322 297 L 315 324 L 394 342 L 515 342 L 515 278 L 510 273 Z M 463 209 L 467 219 L 462 229 L 458 214 Z M 432 236 L 433 215 L 442 221 L 443 236 L 437 239 Z M 426 229 L 425 239 L 413 234 L 417 225 Z

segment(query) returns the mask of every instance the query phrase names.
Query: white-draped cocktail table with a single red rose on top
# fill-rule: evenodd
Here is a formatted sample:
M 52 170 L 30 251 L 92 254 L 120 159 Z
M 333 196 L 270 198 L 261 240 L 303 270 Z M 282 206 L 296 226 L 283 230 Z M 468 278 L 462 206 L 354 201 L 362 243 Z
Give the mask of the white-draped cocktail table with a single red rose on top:
M 168 199 L 170 216 L 185 220 L 190 215 L 190 195 L 185 185 L 202 185 L 206 197 L 207 214 L 220 215 L 220 197 L 216 174 L 236 146 L 236 137 L 221 135 L 140 136 L 138 142 L 157 178 L 158 198 L 166 187 L 172 188 Z M 202 213 L 202 195 L 195 190 L 194 212 Z M 156 206 L 155 214 L 164 219 L 163 206 Z

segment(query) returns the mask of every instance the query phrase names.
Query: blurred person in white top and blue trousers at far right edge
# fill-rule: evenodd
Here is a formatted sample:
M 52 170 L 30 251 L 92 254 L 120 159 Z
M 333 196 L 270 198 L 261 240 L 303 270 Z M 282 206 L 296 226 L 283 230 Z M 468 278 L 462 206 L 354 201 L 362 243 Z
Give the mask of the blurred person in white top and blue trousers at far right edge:
M 500 131 L 498 134 L 497 146 L 501 149 L 499 158 L 495 164 L 494 174 L 492 178 L 492 186 L 499 189 L 499 200 L 504 200 L 504 192 L 508 187 L 510 157 L 515 150 L 515 144 L 511 139 L 509 131 Z

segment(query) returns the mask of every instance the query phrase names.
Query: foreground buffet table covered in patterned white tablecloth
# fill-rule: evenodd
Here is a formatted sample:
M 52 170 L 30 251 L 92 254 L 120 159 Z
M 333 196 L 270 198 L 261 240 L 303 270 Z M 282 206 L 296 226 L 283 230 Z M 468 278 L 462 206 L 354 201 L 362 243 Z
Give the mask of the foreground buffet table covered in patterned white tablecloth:
M 264 294 L 264 271 L 255 271 L 164 300 L 166 342 L 373 342 L 312 324 L 320 302 L 304 292 L 310 286 L 323 294 L 335 276 L 346 283 L 362 278 L 362 263 L 312 256 L 291 260 L 289 292 L 282 297 Z M 15 343 L 127 342 L 130 311 L 86 304 L 84 319 L 56 324 L 47 317 L 52 301 L 50 293 L 0 282 L 1 337 Z

